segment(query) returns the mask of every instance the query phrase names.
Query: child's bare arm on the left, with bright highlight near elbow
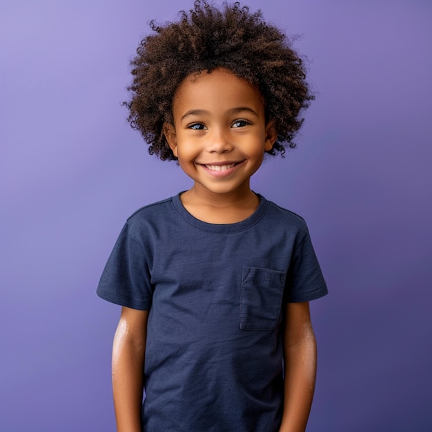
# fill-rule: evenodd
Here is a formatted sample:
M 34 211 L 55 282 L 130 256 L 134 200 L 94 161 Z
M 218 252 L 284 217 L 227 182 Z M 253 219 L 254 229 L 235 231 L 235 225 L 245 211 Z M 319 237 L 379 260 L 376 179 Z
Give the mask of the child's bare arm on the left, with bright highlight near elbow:
M 148 311 L 123 307 L 112 345 L 112 393 L 118 432 L 141 432 Z

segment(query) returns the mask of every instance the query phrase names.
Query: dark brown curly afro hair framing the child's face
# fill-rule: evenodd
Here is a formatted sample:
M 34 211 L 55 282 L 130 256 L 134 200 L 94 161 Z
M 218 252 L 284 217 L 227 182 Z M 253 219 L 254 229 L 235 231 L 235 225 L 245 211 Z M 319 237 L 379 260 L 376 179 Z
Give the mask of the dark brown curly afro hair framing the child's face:
M 264 98 L 266 121 L 273 121 L 277 140 L 268 153 L 284 156 L 286 146 L 303 119 L 301 112 L 314 97 L 305 81 L 306 70 L 280 30 L 268 25 L 258 10 L 239 3 L 219 10 L 206 0 L 181 11 L 179 21 L 158 26 L 150 22 L 130 62 L 133 81 L 128 87 L 128 121 L 150 144 L 150 155 L 176 160 L 164 135 L 164 123 L 173 124 L 171 106 L 179 84 L 190 74 L 226 68 L 257 86 Z

